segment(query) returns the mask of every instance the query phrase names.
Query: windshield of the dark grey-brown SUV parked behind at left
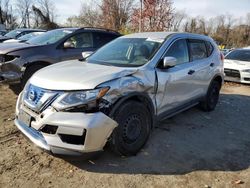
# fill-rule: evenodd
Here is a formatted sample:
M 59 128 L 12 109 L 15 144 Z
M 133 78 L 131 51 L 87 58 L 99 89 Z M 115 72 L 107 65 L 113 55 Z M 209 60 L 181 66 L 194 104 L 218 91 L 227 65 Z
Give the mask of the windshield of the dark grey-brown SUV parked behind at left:
M 36 45 L 53 44 L 72 32 L 73 30 L 67 30 L 67 29 L 52 30 L 44 33 L 43 35 L 31 38 L 30 40 L 27 41 L 27 43 Z

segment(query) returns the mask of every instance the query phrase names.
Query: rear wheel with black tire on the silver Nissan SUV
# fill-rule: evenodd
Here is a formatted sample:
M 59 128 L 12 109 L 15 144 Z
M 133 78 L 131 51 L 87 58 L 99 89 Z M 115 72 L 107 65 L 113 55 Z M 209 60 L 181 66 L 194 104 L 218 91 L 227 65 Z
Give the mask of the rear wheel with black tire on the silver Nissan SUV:
M 220 89 L 221 84 L 218 81 L 212 81 L 204 101 L 200 103 L 200 107 L 203 111 L 210 112 L 215 109 L 219 100 Z

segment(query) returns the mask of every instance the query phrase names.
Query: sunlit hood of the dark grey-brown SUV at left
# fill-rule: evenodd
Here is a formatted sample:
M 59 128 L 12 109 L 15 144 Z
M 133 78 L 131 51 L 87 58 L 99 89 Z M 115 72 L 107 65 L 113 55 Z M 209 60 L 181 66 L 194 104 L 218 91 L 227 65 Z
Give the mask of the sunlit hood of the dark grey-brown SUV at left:
M 0 54 L 7 54 L 9 52 L 21 50 L 24 48 L 30 48 L 34 46 L 36 45 L 28 43 L 19 43 L 19 42 L 0 43 Z

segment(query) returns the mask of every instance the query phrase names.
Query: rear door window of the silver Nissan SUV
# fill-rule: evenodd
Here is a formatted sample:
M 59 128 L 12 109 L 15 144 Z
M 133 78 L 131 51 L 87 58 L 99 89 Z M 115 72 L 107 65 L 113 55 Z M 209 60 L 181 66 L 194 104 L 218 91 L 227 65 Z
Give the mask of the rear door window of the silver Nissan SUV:
M 191 61 L 207 58 L 206 44 L 202 40 L 189 40 Z

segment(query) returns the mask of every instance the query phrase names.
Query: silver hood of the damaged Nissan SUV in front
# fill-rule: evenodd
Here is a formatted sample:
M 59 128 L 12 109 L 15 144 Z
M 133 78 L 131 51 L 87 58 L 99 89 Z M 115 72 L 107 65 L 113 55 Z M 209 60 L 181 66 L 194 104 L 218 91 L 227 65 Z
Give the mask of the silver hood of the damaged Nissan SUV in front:
M 77 60 L 65 61 L 36 72 L 32 85 L 49 90 L 94 89 L 101 83 L 133 74 L 135 68 L 91 64 Z

